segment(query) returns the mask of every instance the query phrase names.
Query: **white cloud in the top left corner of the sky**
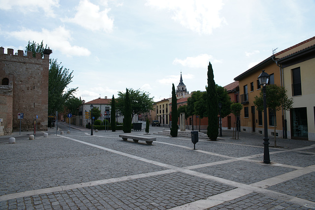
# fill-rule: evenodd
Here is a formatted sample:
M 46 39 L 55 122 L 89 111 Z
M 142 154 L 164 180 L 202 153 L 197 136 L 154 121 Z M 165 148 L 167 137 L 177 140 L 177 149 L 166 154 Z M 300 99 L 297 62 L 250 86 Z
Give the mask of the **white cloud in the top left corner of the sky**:
M 20 10 L 24 13 L 43 9 L 46 16 L 54 17 L 53 7 L 59 7 L 59 0 L 0 0 L 2 10 Z

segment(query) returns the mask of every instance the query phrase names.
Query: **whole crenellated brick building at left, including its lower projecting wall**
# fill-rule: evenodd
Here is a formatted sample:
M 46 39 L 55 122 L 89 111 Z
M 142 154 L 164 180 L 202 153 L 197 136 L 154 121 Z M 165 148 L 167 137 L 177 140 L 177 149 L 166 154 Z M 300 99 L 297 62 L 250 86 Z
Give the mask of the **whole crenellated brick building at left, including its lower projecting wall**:
M 3 119 L 3 134 L 12 131 L 47 130 L 48 126 L 48 74 L 49 55 L 45 49 L 44 58 L 32 52 L 24 56 L 22 50 L 14 55 L 13 49 L 0 47 L 0 119 Z M 23 120 L 18 119 L 23 113 Z M 2 121 L 2 120 L 1 120 Z

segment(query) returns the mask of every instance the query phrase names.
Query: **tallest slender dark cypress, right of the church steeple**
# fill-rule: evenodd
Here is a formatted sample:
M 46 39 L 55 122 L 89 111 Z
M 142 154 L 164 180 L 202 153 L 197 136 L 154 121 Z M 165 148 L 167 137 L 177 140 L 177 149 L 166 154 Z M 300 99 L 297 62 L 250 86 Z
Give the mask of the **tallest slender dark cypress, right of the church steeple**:
M 218 127 L 218 94 L 216 89 L 216 83 L 214 80 L 214 74 L 212 65 L 209 62 L 208 65 L 208 88 L 207 90 L 207 112 L 208 112 L 208 128 L 207 135 L 212 141 L 216 141 L 219 134 Z

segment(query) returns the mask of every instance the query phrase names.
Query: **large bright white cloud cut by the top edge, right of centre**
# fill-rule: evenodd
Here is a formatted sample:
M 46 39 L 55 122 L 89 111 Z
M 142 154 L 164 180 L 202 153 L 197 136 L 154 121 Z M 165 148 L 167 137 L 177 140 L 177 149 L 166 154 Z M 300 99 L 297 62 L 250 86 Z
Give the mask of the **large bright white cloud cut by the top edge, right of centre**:
M 172 11 L 174 21 L 200 34 L 211 34 L 225 23 L 219 14 L 222 0 L 147 0 L 146 5 Z

